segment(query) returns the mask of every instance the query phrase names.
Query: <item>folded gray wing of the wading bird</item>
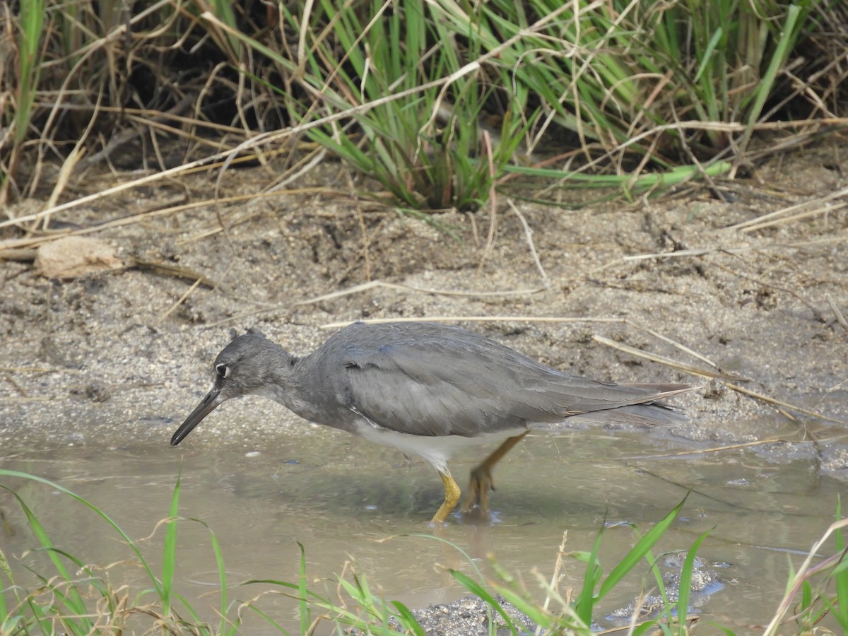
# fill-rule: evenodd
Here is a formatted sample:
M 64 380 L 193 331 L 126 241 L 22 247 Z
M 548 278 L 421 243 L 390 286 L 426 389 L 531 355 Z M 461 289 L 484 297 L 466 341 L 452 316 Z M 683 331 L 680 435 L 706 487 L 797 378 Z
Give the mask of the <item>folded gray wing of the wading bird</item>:
M 349 406 L 394 431 L 473 437 L 651 403 L 689 390 L 687 385 L 595 382 L 549 369 L 483 338 L 462 344 L 405 342 L 349 349 Z M 650 421 L 650 415 L 640 412 L 639 419 Z

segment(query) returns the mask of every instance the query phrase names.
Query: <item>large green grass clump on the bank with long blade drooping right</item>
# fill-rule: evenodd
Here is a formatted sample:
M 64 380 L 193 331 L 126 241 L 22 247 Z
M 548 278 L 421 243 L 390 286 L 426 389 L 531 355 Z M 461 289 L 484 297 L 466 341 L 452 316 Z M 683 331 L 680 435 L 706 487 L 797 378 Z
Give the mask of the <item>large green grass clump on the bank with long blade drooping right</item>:
M 592 34 L 586 36 L 588 59 L 619 64 L 615 55 L 601 54 L 611 36 L 609 29 L 598 36 L 592 20 L 605 18 L 596 8 L 580 8 L 576 15 L 572 5 L 536 9 L 513 3 L 319 3 L 310 12 L 283 9 L 288 31 L 282 32 L 297 38 L 270 45 L 212 14 L 204 19 L 276 65 L 281 86 L 264 81 L 287 104 L 293 131 L 376 179 L 410 209 L 476 209 L 508 174 L 639 193 L 728 170 L 728 164 L 672 170 L 674 162 L 661 159 L 657 165 L 667 174 L 659 176 L 591 174 L 600 166 L 591 144 L 607 152 L 621 144 L 622 152 L 645 155 L 645 161 L 660 157 L 650 151 L 651 142 L 633 140 L 632 127 L 622 131 L 620 120 L 600 116 L 610 89 L 597 82 L 621 78 L 629 67 L 586 70 L 581 59 L 555 53 L 583 46 L 572 38 Z M 616 83 L 616 91 L 627 93 L 619 98 L 628 108 L 642 108 L 635 84 L 626 89 Z M 486 123 L 493 116 L 496 130 Z M 538 149 L 558 148 L 546 140 L 562 137 L 562 129 L 583 144 L 586 174 L 533 165 Z M 573 159 L 570 154 L 556 163 Z

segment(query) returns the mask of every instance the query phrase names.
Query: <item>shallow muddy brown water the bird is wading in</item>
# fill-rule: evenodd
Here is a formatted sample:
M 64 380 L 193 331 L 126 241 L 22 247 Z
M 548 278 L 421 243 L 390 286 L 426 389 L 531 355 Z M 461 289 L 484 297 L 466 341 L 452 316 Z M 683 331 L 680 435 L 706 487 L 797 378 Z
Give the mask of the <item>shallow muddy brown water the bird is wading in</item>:
M 609 572 L 634 543 L 633 530 L 616 522 L 632 522 L 646 532 L 693 488 L 655 554 L 685 550 L 711 530 L 699 554 L 724 585 L 702 600 L 699 633 L 717 631 L 705 624 L 709 621 L 755 633 L 773 616 L 789 561 L 797 567 L 833 520 L 844 484 L 819 477 L 807 460 L 775 462 L 753 449 L 675 455 L 704 449 L 644 432 L 540 433 L 495 471 L 493 522 L 452 516 L 438 532 L 427 525 L 442 496 L 430 466 L 421 460 L 410 465 L 393 449 L 324 428 L 304 426 L 266 440 L 264 447 L 218 449 L 204 444 L 198 429 L 178 449 L 169 448 L 165 436 L 159 445 L 21 451 L 4 456 L 0 466 L 70 488 L 137 539 L 151 535 L 168 516 L 181 471 L 180 515 L 200 519 L 215 532 L 229 583 L 297 582 L 299 542 L 316 592 L 337 600 L 335 577 L 346 561 L 354 561 L 371 589 L 412 608 L 465 594 L 446 568 L 474 577 L 477 566 L 491 576 L 489 553 L 538 589 L 533 568 L 550 579 L 564 532 L 566 550 L 591 550 L 605 523 L 600 559 Z M 483 454 L 452 463 L 460 485 Z M 8 477 L 0 483 L 31 505 L 55 544 L 82 561 L 106 565 L 131 557 L 114 531 L 73 499 L 38 483 Z M 0 493 L 0 507 L 8 522 L 0 539 L 3 550 L 20 557 L 36 540 L 8 493 Z M 159 527 L 141 542 L 154 572 L 159 572 L 163 538 Z M 456 548 L 465 550 L 473 565 Z M 23 563 L 14 557 L 15 572 L 25 577 Z M 23 562 L 37 559 L 30 555 Z M 642 577 L 650 586 L 647 567 L 637 570 L 602 604 L 595 616 L 601 626 L 611 626 L 605 615 L 639 594 Z M 563 572 L 561 590 L 580 585 L 581 564 L 566 559 Z M 114 585 L 129 578 L 135 592 L 146 587 L 134 570 L 116 568 L 110 576 Z M 181 522 L 176 587 L 209 621 L 216 621 L 217 580 L 209 530 L 199 522 Z M 259 591 L 231 589 L 230 598 L 248 600 Z M 259 606 L 297 630 L 292 602 L 265 596 Z M 243 632 L 263 633 L 265 627 L 258 616 L 248 616 Z

